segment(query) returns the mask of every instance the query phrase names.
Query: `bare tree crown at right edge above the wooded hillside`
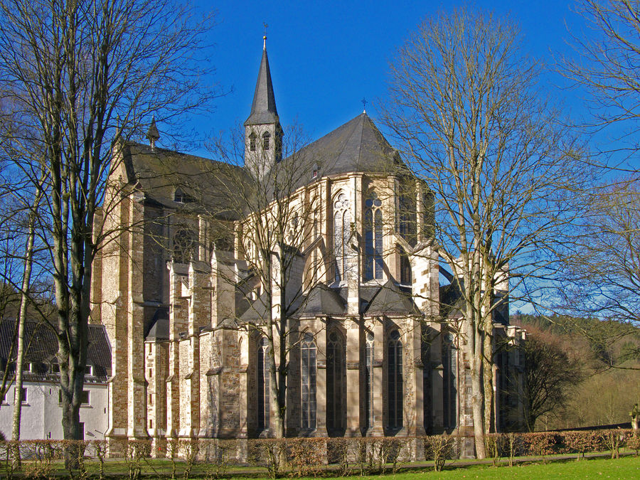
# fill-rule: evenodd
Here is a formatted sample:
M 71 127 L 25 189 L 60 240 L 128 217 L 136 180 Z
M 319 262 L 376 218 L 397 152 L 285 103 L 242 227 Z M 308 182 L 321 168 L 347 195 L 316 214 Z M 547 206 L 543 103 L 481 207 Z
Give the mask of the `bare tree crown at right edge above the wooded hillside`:
M 581 334 L 604 368 L 636 368 L 634 344 L 616 348 L 640 327 L 640 191 L 637 181 L 595 188 L 585 222 L 562 259 L 565 282 L 555 319 Z

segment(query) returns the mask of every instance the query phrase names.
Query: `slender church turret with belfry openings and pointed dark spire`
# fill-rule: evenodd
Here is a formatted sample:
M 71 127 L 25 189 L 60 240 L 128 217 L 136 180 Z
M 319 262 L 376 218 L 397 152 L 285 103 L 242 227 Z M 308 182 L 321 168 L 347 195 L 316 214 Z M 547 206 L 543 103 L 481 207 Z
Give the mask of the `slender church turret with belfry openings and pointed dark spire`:
M 245 166 L 258 180 L 269 174 L 273 165 L 282 159 L 282 127 L 273 95 L 266 35 L 263 40 L 251 114 L 245 122 Z

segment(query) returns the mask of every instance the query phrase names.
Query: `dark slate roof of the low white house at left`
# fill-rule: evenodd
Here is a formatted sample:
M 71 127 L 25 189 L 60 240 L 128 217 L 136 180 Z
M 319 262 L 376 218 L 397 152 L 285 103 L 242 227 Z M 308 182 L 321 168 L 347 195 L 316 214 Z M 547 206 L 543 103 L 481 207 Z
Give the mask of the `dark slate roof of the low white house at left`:
M 11 352 L 11 343 L 16 329 L 15 319 L 3 319 L 0 322 L 0 360 L 2 368 L 16 359 L 16 348 Z M 111 375 L 111 346 L 107 331 L 103 325 L 89 325 L 89 347 L 87 365 L 93 367 L 93 377 L 106 381 Z M 34 364 L 33 372 L 24 372 L 25 380 L 48 379 L 55 373 L 51 366 L 58 363 L 58 340 L 49 326 L 36 321 L 25 322 L 25 340 L 28 350 L 24 361 Z

